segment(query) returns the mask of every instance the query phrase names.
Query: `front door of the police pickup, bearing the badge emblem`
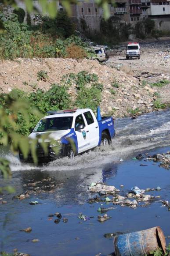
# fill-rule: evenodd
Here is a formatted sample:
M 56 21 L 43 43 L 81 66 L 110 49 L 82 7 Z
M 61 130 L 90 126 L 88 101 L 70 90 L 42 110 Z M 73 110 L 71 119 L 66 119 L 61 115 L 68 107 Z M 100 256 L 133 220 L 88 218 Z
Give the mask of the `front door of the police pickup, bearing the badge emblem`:
M 83 129 L 77 129 L 80 124 L 83 124 Z M 90 134 L 82 114 L 76 117 L 74 128 L 77 136 L 78 153 L 88 150 L 90 148 Z

